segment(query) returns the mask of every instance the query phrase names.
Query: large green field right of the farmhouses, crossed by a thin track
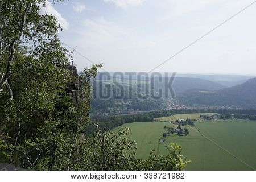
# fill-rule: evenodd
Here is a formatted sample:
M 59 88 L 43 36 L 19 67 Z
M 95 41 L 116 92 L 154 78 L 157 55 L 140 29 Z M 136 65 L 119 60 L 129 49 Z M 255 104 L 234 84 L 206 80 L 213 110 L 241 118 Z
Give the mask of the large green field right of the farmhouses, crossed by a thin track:
M 192 160 L 190 170 L 251 170 L 256 168 L 256 122 L 213 121 L 189 127 L 187 138 L 170 139 L 183 146 L 183 154 Z M 206 137 L 206 138 L 205 138 Z M 166 142 L 170 142 L 166 140 Z M 214 143 L 213 143 L 214 142 Z M 164 155 L 165 152 L 162 153 Z M 245 162 L 245 163 L 241 162 Z

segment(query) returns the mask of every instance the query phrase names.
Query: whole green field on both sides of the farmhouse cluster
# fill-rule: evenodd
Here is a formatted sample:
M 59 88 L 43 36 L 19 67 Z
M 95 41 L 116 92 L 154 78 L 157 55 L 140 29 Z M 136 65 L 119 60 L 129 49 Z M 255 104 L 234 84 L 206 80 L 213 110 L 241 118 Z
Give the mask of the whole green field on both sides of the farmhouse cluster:
M 167 122 L 127 123 L 129 138 L 137 142 L 137 158 L 147 158 L 155 149 L 159 155 L 168 154 L 166 146 L 181 144 L 185 159 L 192 160 L 186 170 L 253 170 L 256 168 L 256 122 L 254 121 L 208 121 L 197 122 L 188 127 L 189 135 L 172 134 L 163 143 L 159 142 Z

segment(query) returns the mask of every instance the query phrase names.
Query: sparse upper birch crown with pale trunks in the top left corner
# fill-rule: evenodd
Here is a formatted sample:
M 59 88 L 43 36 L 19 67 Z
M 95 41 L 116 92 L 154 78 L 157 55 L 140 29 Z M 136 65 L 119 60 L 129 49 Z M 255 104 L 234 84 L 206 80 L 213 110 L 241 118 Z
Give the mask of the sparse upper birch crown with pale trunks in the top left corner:
M 13 100 L 13 89 L 9 79 L 18 71 L 14 70 L 18 52 L 22 49 L 27 55 L 38 56 L 46 53 L 47 48 L 52 44 L 59 43 L 57 39 L 59 26 L 56 18 L 39 13 L 40 6 L 45 2 L 46 0 L 1 1 L 0 94 L 7 89 L 10 100 Z

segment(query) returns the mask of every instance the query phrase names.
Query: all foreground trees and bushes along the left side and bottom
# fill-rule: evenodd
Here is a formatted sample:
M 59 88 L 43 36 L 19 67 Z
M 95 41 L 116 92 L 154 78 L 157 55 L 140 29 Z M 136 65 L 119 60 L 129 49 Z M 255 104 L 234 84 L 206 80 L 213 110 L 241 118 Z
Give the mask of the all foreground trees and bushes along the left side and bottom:
M 120 138 L 127 130 L 102 133 L 96 125 L 94 137 L 84 136 L 102 65 L 74 72 L 56 18 L 40 13 L 45 2 L 0 3 L 0 163 L 36 170 L 183 169 L 175 144 L 164 158 L 151 152 L 140 160 L 135 142 Z

